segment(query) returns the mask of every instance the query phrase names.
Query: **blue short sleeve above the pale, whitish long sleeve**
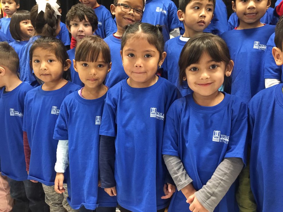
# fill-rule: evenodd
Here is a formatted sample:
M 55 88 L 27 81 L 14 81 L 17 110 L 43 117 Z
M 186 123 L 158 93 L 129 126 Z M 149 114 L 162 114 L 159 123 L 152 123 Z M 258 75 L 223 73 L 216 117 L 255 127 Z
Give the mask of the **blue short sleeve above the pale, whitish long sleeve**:
M 68 107 L 66 101 L 62 102 L 60 113 L 55 124 L 53 139 L 55 140 L 68 140 Z

